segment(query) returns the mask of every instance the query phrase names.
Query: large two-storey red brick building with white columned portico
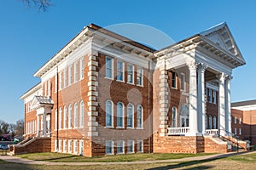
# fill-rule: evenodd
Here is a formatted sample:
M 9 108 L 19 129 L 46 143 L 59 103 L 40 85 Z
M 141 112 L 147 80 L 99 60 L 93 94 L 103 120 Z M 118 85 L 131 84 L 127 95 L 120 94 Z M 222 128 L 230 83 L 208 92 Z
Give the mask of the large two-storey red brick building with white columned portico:
M 84 156 L 229 151 L 220 136 L 231 133 L 230 80 L 240 65 L 226 23 L 159 51 L 91 24 L 21 96 L 25 137 Z

